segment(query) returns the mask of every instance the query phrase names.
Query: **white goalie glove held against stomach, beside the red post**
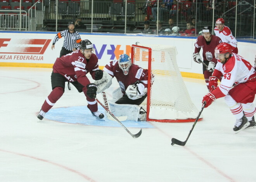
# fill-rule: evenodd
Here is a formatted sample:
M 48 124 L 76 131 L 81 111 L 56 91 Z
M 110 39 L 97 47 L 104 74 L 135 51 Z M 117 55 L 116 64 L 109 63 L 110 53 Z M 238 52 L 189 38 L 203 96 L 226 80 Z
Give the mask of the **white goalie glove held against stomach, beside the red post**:
M 147 94 L 147 88 L 142 83 L 131 84 L 125 90 L 125 94 L 131 100 L 140 99 L 142 96 Z

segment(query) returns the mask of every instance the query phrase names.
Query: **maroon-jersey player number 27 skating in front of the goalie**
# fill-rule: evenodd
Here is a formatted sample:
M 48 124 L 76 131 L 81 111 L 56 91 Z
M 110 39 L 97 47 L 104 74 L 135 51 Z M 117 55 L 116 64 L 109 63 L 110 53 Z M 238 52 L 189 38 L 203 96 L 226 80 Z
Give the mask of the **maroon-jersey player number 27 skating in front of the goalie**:
M 103 71 L 99 70 L 98 58 L 93 53 L 93 44 L 89 40 L 83 40 L 80 49 L 57 58 L 51 76 L 52 92 L 46 98 L 38 113 L 38 119 L 42 120 L 45 113 L 59 100 L 64 93 L 65 82 L 72 83 L 78 92 L 83 92 L 87 100 L 87 107 L 97 119 L 104 115 L 98 111 L 96 98 L 97 87 L 86 77 L 90 72 L 94 80 L 100 80 Z M 69 86 L 69 84 L 68 84 Z M 69 88 L 70 89 L 70 88 Z

